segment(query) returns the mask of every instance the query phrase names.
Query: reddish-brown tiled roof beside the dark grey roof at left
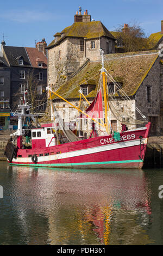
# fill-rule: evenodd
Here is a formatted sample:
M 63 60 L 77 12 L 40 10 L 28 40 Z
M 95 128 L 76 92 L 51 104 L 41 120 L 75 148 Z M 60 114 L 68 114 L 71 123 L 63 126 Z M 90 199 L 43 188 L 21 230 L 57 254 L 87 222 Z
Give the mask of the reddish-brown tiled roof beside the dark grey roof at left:
M 30 63 L 32 64 L 33 68 L 43 68 L 47 69 L 47 57 L 43 52 L 39 52 L 37 48 L 34 47 L 26 47 L 26 51 L 28 53 Z M 36 63 L 37 62 L 42 62 L 43 66 L 39 67 Z

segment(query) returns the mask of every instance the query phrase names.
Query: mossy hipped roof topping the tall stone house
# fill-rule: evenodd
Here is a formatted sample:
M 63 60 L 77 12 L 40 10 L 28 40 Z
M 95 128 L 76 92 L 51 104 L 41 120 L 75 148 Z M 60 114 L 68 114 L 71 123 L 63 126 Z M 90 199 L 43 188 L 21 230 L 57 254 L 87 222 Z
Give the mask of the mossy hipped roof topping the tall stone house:
M 51 44 L 47 46 L 47 48 L 58 45 L 67 36 L 86 39 L 107 36 L 108 38 L 116 40 L 101 21 L 74 22 L 72 26 L 66 27 L 64 30 L 62 30 L 60 34 L 64 34 L 61 39 L 59 39 L 57 42 L 54 39 Z

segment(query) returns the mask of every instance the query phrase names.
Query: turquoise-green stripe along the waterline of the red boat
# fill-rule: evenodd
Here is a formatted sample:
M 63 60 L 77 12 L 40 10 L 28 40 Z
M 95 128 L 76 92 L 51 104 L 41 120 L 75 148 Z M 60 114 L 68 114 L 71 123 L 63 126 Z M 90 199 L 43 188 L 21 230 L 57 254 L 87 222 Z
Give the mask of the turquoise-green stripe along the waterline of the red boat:
M 59 167 L 59 166 L 88 166 L 95 164 L 111 164 L 111 163 L 138 163 L 143 160 L 126 160 L 126 161 L 109 161 L 109 162 L 87 162 L 87 163 L 10 163 L 19 166 L 38 166 L 38 167 Z

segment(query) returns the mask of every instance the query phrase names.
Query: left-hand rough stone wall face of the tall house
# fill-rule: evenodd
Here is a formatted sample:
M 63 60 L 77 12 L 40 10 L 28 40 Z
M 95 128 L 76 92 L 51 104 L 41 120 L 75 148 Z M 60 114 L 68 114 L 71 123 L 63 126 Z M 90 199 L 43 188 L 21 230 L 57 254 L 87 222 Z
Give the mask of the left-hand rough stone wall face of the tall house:
M 58 89 L 85 60 L 84 52 L 80 51 L 79 38 L 66 38 L 61 44 L 49 49 L 48 84 L 53 84 L 53 89 Z

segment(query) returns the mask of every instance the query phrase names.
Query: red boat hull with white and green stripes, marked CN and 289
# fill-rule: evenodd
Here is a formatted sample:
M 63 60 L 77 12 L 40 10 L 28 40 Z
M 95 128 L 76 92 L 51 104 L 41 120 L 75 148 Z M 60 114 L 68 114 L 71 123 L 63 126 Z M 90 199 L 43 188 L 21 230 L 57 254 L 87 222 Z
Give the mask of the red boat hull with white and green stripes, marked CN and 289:
M 111 135 L 36 149 L 18 149 L 10 164 L 63 168 L 136 168 L 141 169 L 146 154 L 151 123 L 146 127 Z M 37 161 L 32 162 L 32 156 Z

